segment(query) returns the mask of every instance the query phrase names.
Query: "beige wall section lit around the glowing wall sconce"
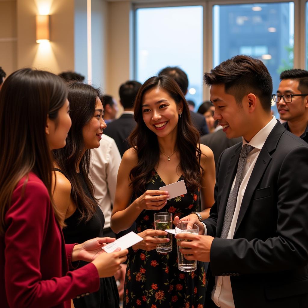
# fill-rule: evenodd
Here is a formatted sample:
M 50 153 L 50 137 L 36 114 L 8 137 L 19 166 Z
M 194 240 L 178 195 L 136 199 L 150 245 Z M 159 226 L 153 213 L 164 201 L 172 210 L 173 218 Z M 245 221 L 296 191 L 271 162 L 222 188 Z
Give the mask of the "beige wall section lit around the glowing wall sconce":
M 46 13 L 51 15 L 51 41 L 37 44 L 35 15 L 46 6 Z M 55 74 L 74 69 L 73 0 L 17 0 L 17 66 L 35 67 Z

